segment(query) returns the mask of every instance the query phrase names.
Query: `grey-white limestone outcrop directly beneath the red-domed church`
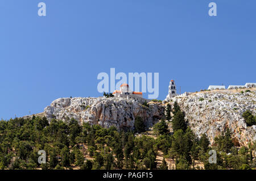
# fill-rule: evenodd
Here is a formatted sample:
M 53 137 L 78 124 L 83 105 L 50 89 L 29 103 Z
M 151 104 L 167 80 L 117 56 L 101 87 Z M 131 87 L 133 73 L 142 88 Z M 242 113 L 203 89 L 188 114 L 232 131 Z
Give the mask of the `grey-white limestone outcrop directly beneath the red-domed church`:
M 164 115 L 164 106 L 149 103 L 149 106 L 125 98 L 59 98 L 44 109 L 48 120 L 74 118 L 82 123 L 99 124 L 118 130 L 134 129 L 136 116 L 142 117 L 146 127 L 152 127 Z

